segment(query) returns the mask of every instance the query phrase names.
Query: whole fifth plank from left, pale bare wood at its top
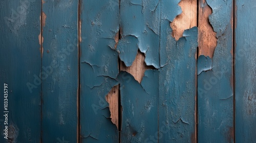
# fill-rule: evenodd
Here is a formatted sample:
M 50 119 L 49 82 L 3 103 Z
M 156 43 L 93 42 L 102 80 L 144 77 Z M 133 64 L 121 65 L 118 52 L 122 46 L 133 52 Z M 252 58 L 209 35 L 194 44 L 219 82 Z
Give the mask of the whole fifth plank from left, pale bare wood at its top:
M 168 17 L 161 17 L 159 142 L 196 142 L 197 135 L 197 2 L 181 1 L 181 9 L 178 3 L 166 1 L 162 7 Z

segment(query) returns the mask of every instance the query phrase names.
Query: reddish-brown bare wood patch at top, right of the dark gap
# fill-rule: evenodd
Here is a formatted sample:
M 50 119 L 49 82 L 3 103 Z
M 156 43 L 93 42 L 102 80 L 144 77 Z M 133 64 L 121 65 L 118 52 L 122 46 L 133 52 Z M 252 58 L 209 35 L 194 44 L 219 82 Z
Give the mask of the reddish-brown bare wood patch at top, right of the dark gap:
M 209 22 L 209 15 L 212 13 L 212 9 L 207 5 L 205 0 L 201 0 L 199 5 L 199 17 L 198 17 L 198 56 L 204 55 L 212 58 L 215 48 L 217 46 L 216 32 L 214 32 Z

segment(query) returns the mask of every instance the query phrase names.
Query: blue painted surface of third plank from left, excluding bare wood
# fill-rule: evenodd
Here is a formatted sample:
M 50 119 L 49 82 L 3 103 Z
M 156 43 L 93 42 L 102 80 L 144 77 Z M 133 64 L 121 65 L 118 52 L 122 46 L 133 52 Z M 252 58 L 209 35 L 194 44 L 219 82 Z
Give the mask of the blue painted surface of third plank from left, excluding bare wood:
M 119 1 L 81 1 L 80 10 L 80 141 L 118 142 L 105 96 L 118 85 Z

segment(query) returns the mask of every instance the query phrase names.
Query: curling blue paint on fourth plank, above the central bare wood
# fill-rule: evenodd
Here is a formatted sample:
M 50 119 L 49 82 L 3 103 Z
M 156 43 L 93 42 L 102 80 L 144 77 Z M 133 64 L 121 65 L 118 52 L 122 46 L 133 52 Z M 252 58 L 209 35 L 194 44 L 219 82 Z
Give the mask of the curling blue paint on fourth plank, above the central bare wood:
M 120 1 L 121 36 L 137 37 L 139 50 L 145 54 L 145 63 L 160 68 L 159 33 L 160 1 Z M 134 57 L 137 53 L 131 53 Z

